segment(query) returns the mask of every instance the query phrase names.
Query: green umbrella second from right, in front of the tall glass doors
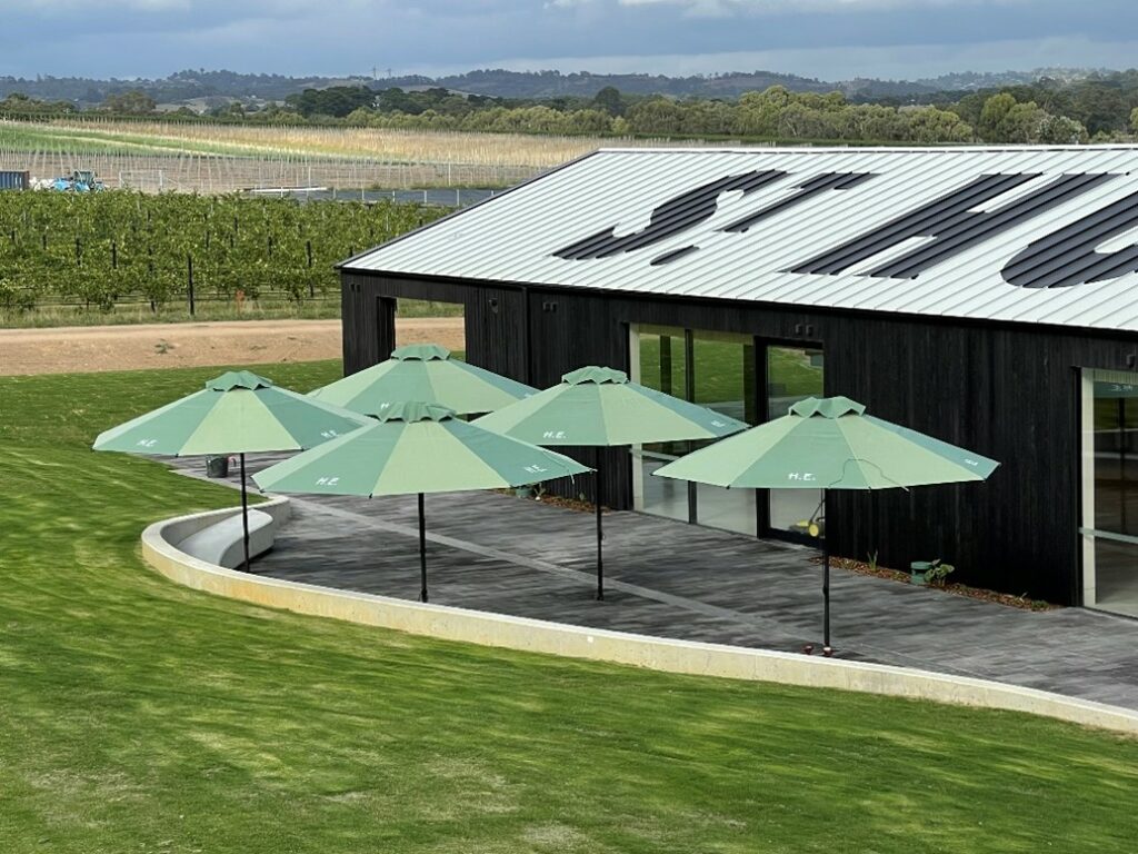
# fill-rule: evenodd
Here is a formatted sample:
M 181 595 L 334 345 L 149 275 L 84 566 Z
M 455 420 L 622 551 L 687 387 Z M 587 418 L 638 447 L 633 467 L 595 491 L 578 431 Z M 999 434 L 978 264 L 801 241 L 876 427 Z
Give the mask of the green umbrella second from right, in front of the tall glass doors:
M 483 416 L 475 424 L 535 445 L 597 449 L 720 438 L 747 429 L 743 421 L 630 383 L 624 371 L 596 366 L 570 371 L 559 385 Z M 596 598 L 604 599 L 600 451 L 595 466 Z

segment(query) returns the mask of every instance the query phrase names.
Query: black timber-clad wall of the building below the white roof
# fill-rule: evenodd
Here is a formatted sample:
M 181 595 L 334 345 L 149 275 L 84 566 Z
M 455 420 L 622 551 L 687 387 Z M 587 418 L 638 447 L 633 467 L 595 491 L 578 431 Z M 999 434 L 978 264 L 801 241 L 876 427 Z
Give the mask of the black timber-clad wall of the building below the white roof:
M 344 282 L 348 371 L 386 358 L 376 342 L 388 319 L 374 306 L 397 296 L 463 303 L 468 359 L 538 387 L 582 364 L 627 370 L 630 323 L 822 346 L 827 395 L 1001 463 L 984 484 L 831 493 L 834 553 L 877 551 L 882 565 L 901 568 L 940 557 L 966 583 L 1078 602 L 1077 369 L 1132 367 L 1136 335 L 360 273 Z M 605 495 L 628 507 L 627 454 L 610 451 L 607 463 Z

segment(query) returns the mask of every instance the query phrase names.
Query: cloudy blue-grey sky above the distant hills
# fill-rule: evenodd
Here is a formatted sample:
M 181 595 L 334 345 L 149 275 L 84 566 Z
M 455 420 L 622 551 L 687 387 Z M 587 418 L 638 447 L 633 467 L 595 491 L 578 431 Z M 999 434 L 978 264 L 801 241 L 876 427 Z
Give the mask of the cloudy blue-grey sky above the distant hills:
M 0 0 L 0 75 L 1138 65 L 1138 0 Z

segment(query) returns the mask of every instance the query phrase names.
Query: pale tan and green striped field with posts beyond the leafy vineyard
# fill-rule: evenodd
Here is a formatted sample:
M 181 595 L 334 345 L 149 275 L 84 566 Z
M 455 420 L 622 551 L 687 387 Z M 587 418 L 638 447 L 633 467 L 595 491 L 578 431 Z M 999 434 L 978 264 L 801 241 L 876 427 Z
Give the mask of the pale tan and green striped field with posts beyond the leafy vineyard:
M 658 141 L 366 128 L 0 121 L 0 170 L 91 169 L 109 187 L 506 187 L 604 146 Z

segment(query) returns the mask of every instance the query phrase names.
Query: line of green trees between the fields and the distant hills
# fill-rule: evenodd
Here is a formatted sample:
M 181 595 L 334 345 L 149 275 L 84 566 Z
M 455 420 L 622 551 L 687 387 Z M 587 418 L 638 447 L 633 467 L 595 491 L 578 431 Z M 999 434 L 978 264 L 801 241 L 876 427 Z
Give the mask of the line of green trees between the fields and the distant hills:
M 79 115 L 150 116 L 141 91 L 108 96 Z M 76 115 L 64 101 L 13 95 L 0 115 Z M 162 114 L 200 121 L 189 109 Z M 218 108 L 212 121 L 321 124 L 439 131 L 688 137 L 780 141 L 908 142 L 917 145 L 1078 143 L 1125 141 L 1138 133 L 1138 72 L 1064 83 L 1038 81 L 998 91 L 922 104 L 856 102 L 841 92 L 795 92 L 782 85 L 735 99 L 638 96 L 613 87 L 591 98 L 518 100 L 443 88 L 376 91 L 364 85 L 305 89 L 283 102 L 250 110 Z

